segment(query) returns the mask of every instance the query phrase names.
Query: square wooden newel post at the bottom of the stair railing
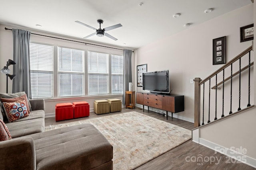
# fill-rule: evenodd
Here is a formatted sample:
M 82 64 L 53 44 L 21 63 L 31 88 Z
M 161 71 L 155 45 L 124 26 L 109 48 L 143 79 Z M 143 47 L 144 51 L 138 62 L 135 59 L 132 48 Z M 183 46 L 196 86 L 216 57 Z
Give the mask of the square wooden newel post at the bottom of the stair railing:
M 201 78 L 195 78 L 195 106 L 194 106 L 194 127 L 200 126 L 200 94 L 201 94 L 201 88 L 199 86 L 199 83 L 201 82 Z

